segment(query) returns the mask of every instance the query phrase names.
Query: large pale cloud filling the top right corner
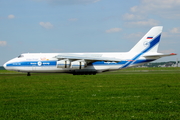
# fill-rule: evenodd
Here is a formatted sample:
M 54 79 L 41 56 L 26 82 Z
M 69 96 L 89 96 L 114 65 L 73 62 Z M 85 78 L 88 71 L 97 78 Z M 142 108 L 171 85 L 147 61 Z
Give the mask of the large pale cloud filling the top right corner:
M 180 0 L 141 0 L 141 4 L 130 8 L 136 15 L 155 14 L 168 19 L 180 19 Z

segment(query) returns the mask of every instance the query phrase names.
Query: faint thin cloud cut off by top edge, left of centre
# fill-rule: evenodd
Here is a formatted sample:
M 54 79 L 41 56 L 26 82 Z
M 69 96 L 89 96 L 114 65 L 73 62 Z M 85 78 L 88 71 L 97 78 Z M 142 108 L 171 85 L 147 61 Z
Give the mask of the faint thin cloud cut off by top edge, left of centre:
M 47 1 L 53 5 L 81 5 L 96 3 L 100 0 L 35 0 L 35 1 Z

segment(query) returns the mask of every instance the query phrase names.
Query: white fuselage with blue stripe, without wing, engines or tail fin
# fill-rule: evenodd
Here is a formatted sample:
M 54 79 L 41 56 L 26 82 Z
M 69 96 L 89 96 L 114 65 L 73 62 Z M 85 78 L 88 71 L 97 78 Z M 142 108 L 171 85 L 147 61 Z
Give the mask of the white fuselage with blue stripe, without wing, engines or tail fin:
M 57 62 L 60 61 L 55 56 L 57 55 L 86 55 L 86 56 L 100 56 L 100 57 L 113 57 L 116 59 L 120 59 L 119 62 L 114 61 L 95 61 L 95 62 L 87 62 L 86 67 L 83 69 L 73 68 L 70 66 L 69 68 L 58 67 Z M 4 67 L 7 70 L 14 70 L 19 72 L 67 72 L 71 73 L 74 71 L 84 71 L 84 72 L 103 72 L 103 71 L 111 71 L 118 70 L 126 67 L 132 67 L 136 65 L 140 65 L 146 62 L 150 62 L 155 60 L 153 59 L 145 59 L 144 57 L 140 57 L 137 60 L 132 60 L 132 58 L 136 55 L 136 53 L 128 53 L 128 52 L 115 52 L 115 53 L 26 53 L 22 54 L 19 57 L 16 57 L 4 64 Z M 73 62 L 73 61 L 71 61 Z M 123 67 L 129 63 L 127 66 Z

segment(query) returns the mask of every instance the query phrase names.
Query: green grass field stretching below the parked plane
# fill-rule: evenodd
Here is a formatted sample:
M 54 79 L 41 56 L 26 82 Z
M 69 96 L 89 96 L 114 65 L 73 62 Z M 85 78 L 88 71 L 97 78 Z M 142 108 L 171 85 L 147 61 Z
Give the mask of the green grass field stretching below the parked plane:
M 0 73 L 2 120 L 180 119 L 179 68 L 87 76 Z

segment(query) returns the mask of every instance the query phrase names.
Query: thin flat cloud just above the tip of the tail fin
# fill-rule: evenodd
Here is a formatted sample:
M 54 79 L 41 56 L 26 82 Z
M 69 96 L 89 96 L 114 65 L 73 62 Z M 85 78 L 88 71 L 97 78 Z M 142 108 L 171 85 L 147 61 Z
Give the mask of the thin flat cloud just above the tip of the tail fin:
M 157 20 L 149 19 L 149 20 L 141 20 L 135 22 L 127 22 L 127 25 L 137 25 L 137 26 L 156 26 L 159 24 Z

